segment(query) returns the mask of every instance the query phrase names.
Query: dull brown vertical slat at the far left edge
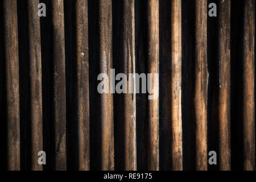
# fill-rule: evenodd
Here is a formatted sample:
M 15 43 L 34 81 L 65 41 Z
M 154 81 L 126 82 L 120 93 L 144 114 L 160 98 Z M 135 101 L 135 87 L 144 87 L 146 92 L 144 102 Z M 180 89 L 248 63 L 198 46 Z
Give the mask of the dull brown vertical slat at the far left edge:
M 20 127 L 19 127 L 19 54 L 17 3 L 3 1 L 6 100 L 7 100 L 7 169 L 20 169 Z

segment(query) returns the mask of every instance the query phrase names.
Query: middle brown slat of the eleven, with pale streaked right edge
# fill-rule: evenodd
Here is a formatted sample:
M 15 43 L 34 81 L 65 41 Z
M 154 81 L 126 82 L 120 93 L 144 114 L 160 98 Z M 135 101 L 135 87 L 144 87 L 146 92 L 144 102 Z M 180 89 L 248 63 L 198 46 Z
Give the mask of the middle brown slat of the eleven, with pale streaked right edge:
M 123 1 L 123 61 L 124 71 L 135 73 L 135 15 L 134 0 Z M 133 77 L 135 83 L 135 77 Z M 127 81 L 127 89 L 129 81 Z M 133 93 L 125 93 L 125 170 L 137 170 L 137 146 L 136 146 L 136 93 L 133 84 Z

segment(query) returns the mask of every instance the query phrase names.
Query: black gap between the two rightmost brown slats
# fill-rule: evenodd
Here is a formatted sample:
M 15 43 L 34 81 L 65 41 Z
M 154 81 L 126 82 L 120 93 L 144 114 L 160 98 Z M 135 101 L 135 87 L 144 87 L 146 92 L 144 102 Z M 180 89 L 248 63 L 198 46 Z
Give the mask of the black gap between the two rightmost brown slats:
M 231 3 L 231 164 L 232 170 L 243 169 L 243 1 Z

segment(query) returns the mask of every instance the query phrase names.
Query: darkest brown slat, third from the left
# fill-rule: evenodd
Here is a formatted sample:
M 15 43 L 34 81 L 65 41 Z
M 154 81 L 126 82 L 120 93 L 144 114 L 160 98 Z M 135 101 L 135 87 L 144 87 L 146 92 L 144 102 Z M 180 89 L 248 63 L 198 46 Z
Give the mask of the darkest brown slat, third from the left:
M 55 169 L 63 171 L 66 164 L 66 95 L 65 95 L 65 34 L 63 0 L 52 2 L 53 97 Z

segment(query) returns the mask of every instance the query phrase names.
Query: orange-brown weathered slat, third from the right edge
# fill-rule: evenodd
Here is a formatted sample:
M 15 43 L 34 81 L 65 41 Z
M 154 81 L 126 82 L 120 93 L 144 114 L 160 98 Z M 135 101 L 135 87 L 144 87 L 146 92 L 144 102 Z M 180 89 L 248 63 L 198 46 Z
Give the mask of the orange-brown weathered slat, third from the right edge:
M 195 144 L 196 169 L 207 170 L 207 1 L 195 1 Z

